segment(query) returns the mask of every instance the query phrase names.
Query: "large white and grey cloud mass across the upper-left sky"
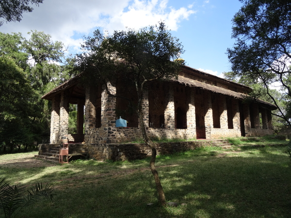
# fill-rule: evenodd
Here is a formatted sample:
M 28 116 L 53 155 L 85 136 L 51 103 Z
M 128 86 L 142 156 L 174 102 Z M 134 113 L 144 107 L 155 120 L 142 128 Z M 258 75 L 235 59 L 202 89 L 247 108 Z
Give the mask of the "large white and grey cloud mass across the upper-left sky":
M 169 29 L 177 31 L 179 22 L 188 19 L 195 11 L 189 8 L 173 8 L 168 0 L 45 0 L 32 13 L 23 14 L 20 22 L 4 23 L 1 32 L 37 30 L 50 34 L 54 41 L 62 41 L 77 50 L 81 36 L 95 29 L 124 30 L 125 27 L 141 27 L 165 21 Z

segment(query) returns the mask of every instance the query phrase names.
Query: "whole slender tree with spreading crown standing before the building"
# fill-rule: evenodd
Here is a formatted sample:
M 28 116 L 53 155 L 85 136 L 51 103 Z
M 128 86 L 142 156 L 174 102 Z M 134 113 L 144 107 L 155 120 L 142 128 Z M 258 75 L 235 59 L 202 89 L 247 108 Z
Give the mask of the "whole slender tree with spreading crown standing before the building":
M 150 169 L 154 176 L 159 201 L 165 205 L 161 181 L 155 168 L 156 145 L 146 134 L 143 96 L 147 85 L 154 80 L 178 77 L 183 64 L 180 54 L 183 48 L 178 39 L 166 29 L 164 23 L 135 31 L 114 31 L 104 36 L 100 31 L 94 37 L 85 38 L 83 53 L 78 55 L 77 72 L 84 72 L 86 82 L 100 81 L 109 95 L 123 97 L 135 109 L 143 140 L 151 148 Z M 121 83 L 134 87 L 136 101 L 112 92 L 109 83 L 118 78 Z

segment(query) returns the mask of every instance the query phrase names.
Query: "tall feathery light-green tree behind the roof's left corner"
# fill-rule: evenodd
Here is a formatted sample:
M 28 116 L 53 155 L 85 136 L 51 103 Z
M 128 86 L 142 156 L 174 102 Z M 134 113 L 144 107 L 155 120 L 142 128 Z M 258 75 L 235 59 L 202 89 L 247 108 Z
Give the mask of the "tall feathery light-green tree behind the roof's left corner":
M 38 93 L 35 104 L 35 111 L 39 111 L 41 116 L 38 123 L 41 124 L 43 132 L 49 132 L 50 105 L 41 96 L 56 87 L 59 78 L 64 76 L 62 72 L 62 62 L 64 58 L 64 45 L 59 41 L 52 41 L 49 34 L 43 31 L 29 32 L 31 38 L 24 40 L 23 47 L 30 56 L 30 61 L 34 62 L 29 72 L 29 79 L 32 88 Z

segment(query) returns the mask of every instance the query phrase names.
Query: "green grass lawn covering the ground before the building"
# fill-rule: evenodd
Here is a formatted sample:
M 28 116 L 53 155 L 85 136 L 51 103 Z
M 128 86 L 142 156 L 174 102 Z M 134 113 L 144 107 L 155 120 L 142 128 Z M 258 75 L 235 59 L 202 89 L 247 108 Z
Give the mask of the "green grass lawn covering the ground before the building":
M 228 150 L 205 147 L 159 156 L 156 166 L 166 200 L 178 207 L 159 206 L 148 159 L 29 165 L 16 163 L 33 160 L 36 152 L 1 155 L 0 175 L 11 184 L 55 187 L 52 201 L 37 202 L 17 218 L 291 218 L 286 142 L 260 142 L 264 147 L 243 143 Z

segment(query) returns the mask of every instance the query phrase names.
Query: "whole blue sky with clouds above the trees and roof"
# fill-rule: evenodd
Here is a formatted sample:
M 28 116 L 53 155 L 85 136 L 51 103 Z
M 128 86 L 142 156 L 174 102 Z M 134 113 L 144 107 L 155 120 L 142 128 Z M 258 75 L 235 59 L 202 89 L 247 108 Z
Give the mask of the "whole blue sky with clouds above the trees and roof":
M 4 23 L 0 31 L 20 32 L 27 39 L 31 30 L 44 31 L 76 54 L 82 36 L 97 29 L 112 34 L 164 21 L 183 45 L 186 65 L 221 77 L 231 71 L 226 49 L 235 42 L 231 20 L 241 6 L 239 0 L 44 0 L 20 22 Z

